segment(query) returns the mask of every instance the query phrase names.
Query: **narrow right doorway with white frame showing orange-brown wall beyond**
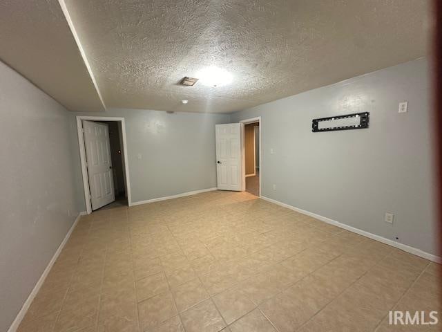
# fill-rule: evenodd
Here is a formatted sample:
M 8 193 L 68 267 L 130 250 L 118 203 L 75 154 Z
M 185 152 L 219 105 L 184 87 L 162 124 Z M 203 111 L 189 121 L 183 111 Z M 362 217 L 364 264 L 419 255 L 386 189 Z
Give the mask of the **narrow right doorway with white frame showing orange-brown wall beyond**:
M 261 196 L 261 118 L 240 121 L 242 133 L 242 176 L 243 190 L 255 196 Z

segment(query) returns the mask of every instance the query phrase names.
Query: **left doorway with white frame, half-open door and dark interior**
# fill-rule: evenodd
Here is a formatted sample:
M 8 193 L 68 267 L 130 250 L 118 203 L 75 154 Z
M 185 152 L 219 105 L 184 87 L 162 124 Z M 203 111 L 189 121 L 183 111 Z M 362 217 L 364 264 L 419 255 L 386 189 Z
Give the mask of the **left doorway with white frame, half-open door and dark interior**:
M 124 118 L 77 116 L 86 212 L 131 206 Z

